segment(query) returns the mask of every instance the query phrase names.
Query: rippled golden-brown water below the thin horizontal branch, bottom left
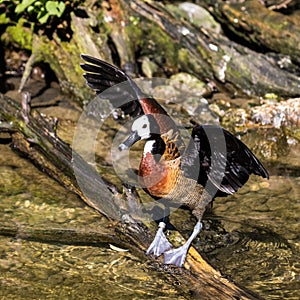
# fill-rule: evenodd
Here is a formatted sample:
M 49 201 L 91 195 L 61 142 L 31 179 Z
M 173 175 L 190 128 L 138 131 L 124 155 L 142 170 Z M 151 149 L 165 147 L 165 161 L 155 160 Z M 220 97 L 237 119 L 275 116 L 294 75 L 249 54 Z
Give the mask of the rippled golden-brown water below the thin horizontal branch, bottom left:
M 1 299 L 184 299 L 130 252 L 2 237 Z

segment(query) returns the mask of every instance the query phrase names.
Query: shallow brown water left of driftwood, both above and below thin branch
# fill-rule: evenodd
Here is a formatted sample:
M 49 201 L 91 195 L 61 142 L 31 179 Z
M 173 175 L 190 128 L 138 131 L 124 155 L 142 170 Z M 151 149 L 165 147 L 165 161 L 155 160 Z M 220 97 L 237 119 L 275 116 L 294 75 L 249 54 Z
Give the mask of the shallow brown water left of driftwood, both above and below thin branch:
M 0 227 L 97 232 L 105 218 L 0 144 Z M 162 274 L 108 244 L 0 235 L 0 299 L 184 299 Z

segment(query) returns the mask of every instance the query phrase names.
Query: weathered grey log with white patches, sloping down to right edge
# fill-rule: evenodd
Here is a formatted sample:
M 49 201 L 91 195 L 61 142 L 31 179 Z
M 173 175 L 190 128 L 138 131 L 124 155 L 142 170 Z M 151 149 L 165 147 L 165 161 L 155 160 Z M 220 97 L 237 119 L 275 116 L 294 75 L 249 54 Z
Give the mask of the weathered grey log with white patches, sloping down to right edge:
M 295 73 L 282 68 L 279 58 L 253 51 L 249 45 L 244 46 L 238 41 L 230 40 L 223 32 L 217 33 L 202 27 L 195 28 L 190 22 L 176 17 L 160 3 L 140 0 L 129 2 L 134 12 L 153 22 L 154 26 L 158 26 L 172 38 L 178 48 L 178 64 L 184 71 L 196 75 L 201 80 L 211 80 L 219 89 L 225 89 L 232 94 L 263 96 L 273 92 L 281 96 L 299 95 L 300 79 L 297 75 L 297 67 L 293 64 L 291 68 L 296 69 Z M 266 10 L 265 7 L 263 8 Z M 269 10 L 268 12 L 275 14 Z M 267 16 L 269 16 L 267 13 L 260 15 L 261 18 Z M 265 31 L 266 35 L 267 31 L 268 28 Z M 276 29 L 271 32 L 275 31 Z M 296 36 L 288 33 L 288 30 L 286 34 Z M 281 42 L 281 29 L 277 29 L 276 35 Z M 270 40 L 272 38 L 270 36 Z M 291 39 L 289 42 L 291 45 L 285 44 L 285 47 L 289 47 L 290 50 L 284 51 L 281 47 L 278 51 L 282 50 L 283 54 L 290 51 L 294 53 L 293 57 L 299 57 L 299 48 L 296 49 L 299 42 L 293 44 L 295 41 Z

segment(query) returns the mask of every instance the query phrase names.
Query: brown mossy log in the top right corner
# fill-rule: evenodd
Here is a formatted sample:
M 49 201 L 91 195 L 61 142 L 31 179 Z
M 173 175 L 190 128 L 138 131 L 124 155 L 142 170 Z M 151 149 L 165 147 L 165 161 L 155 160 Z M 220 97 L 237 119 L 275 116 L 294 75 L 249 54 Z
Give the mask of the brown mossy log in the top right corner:
M 287 55 L 300 63 L 300 17 L 277 11 L 296 6 L 295 1 L 264 3 L 251 1 L 203 1 L 213 16 L 226 28 L 231 36 L 247 43 L 259 52 L 274 52 Z M 296 8 L 294 8 L 296 10 Z M 284 67 L 284 66 L 283 66 Z

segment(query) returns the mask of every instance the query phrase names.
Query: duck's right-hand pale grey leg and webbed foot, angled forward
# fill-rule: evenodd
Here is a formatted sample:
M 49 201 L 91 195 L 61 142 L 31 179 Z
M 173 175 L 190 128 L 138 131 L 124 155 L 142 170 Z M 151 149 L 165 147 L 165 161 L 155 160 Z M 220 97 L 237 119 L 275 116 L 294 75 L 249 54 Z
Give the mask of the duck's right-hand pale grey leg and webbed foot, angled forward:
M 201 221 L 198 221 L 194 227 L 193 233 L 191 234 L 191 236 L 183 246 L 164 252 L 165 264 L 173 264 L 178 267 L 182 267 L 185 262 L 185 258 L 189 250 L 189 247 L 201 229 L 202 229 L 202 223 Z

